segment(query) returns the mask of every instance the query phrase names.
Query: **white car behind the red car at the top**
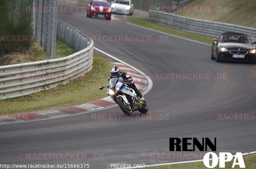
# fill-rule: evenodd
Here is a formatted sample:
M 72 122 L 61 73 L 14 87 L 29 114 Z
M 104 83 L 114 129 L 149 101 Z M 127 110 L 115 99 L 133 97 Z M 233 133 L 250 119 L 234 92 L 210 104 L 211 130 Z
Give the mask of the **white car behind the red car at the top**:
M 131 0 L 115 0 L 111 2 L 111 11 L 116 13 L 122 13 L 132 15 L 133 4 Z

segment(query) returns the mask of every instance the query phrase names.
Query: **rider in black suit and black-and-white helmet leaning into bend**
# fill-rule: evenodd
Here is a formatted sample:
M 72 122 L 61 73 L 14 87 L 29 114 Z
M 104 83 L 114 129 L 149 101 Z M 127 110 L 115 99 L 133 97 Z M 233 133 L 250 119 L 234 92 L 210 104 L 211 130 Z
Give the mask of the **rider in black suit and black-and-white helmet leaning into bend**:
M 122 72 L 122 71 L 121 71 Z M 108 77 L 108 81 L 112 78 L 115 78 L 115 77 L 119 77 L 120 75 L 120 69 L 117 67 L 117 66 L 113 66 L 111 69 L 110 69 L 110 73 L 111 73 L 111 76 Z M 134 83 L 132 83 L 132 77 L 130 77 L 127 73 L 123 73 L 121 75 L 121 77 L 124 79 L 123 82 L 126 82 L 128 83 L 127 85 L 132 88 L 135 93 L 137 94 L 137 96 L 140 98 L 140 100 L 144 100 L 145 101 L 145 98 L 143 97 L 143 95 L 141 94 L 141 92 L 139 91 L 139 89 L 134 85 Z

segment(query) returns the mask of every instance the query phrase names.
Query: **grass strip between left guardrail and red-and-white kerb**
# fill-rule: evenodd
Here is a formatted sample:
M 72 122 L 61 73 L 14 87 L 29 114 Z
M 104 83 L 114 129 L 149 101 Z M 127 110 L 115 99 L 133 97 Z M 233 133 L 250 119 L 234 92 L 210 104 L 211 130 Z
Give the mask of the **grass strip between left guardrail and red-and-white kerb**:
M 112 64 L 99 55 L 93 54 L 93 56 L 93 68 L 84 76 L 50 90 L 24 97 L 0 100 L 0 114 L 52 110 L 106 97 L 106 91 L 99 90 L 99 87 L 108 84 L 107 79 Z

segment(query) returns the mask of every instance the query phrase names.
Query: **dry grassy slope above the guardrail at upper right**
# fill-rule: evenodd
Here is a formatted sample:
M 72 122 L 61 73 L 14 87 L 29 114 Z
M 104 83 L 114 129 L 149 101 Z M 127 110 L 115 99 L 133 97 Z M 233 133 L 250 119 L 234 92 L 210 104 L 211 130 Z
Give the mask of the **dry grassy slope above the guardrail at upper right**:
M 208 6 L 211 8 L 211 12 L 177 12 L 175 14 L 188 18 L 210 20 L 256 28 L 255 0 L 190 0 L 188 5 Z

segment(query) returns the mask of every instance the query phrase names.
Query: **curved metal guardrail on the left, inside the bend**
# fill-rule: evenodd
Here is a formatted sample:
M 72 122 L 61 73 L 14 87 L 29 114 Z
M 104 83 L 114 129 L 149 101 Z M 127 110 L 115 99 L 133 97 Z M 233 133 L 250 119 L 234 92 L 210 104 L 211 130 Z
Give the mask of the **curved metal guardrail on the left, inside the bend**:
M 80 50 L 67 57 L 0 66 L 0 99 L 25 96 L 66 84 L 92 70 L 94 42 L 57 21 L 57 36 Z

